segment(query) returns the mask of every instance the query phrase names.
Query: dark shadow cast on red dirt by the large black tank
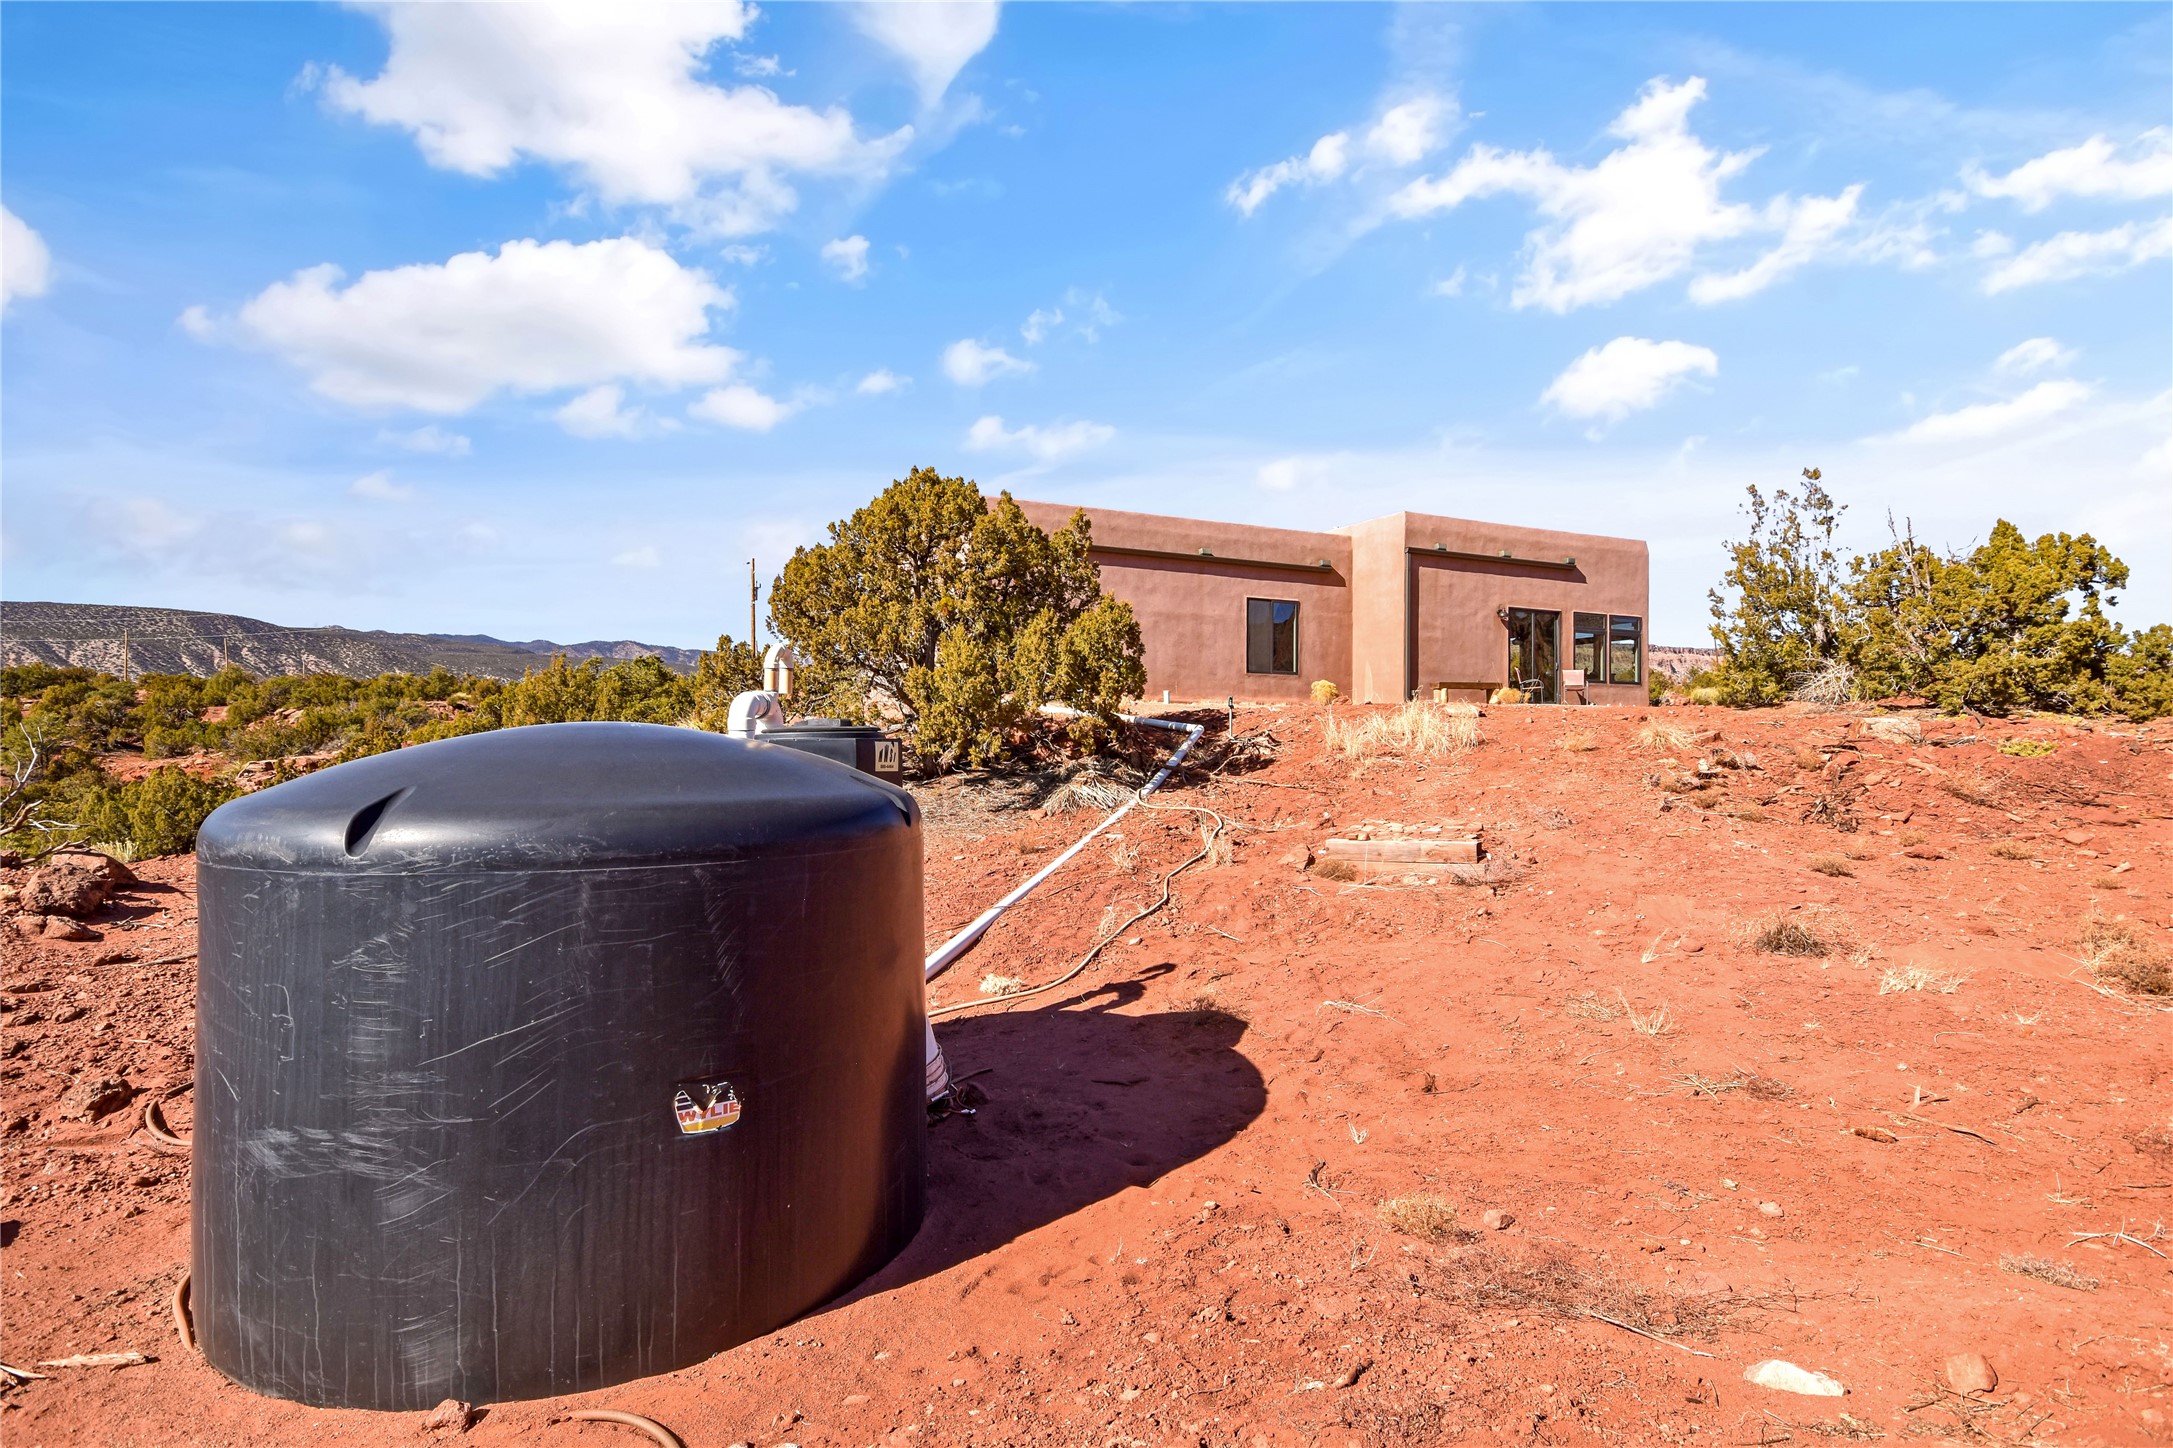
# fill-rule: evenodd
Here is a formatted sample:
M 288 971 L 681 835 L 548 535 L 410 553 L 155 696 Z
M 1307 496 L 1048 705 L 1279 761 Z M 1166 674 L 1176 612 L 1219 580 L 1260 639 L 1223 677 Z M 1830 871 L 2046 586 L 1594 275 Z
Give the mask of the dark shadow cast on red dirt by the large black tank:
M 989 1100 L 930 1128 L 919 1235 L 832 1307 L 934 1276 L 1147 1185 L 1260 1115 L 1267 1083 L 1236 1050 L 1243 1020 L 1117 1013 L 1139 996 L 1139 981 L 1121 981 L 1039 1011 L 937 1026 L 952 1078 L 974 1076 Z

